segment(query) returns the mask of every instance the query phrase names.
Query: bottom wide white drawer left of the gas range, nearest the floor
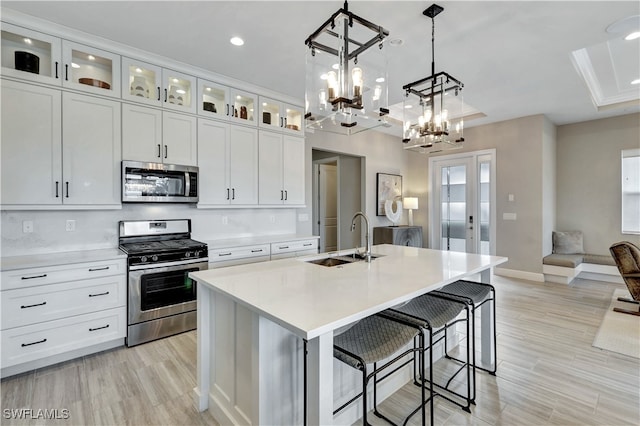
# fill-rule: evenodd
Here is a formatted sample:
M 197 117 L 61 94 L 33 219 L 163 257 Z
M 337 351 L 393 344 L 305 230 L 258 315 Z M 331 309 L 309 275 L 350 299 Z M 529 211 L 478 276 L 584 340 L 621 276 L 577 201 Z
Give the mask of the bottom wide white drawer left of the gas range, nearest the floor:
M 124 338 L 126 308 L 0 331 L 2 368 Z

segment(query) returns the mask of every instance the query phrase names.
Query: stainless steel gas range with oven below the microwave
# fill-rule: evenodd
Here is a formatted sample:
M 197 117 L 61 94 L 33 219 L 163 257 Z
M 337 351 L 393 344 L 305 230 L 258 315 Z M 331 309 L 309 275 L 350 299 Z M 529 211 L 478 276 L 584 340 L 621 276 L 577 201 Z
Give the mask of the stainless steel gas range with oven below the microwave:
M 127 346 L 194 330 L 196 285 L 188 273 L 207 269 L 207 245 L 191 239 L 191 220 L 121 221 L 127 256 Z

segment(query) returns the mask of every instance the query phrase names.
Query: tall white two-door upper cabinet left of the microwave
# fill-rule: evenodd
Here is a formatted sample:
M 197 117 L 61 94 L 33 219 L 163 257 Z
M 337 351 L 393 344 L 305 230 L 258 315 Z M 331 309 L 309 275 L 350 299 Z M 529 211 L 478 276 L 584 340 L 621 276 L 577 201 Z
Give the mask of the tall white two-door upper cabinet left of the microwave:
M 120 206 L 119 102 L 3 80 L 2 104 L 3 208 Z

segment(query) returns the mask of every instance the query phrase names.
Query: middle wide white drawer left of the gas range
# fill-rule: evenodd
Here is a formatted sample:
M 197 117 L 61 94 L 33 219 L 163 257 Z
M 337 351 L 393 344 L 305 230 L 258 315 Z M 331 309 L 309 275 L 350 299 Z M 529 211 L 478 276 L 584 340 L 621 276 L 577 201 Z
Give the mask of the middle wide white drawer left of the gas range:
M 7 290 L 2 292 L 2 329 L 125 306 L 126 289 L 125 275 L 116 275 Z

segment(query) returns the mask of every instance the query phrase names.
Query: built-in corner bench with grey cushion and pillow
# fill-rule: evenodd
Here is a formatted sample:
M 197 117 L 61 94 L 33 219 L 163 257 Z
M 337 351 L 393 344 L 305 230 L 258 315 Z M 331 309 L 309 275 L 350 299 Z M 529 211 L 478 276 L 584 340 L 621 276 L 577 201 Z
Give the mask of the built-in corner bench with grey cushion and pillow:
M 569 284 L 578 274 L 598 281 L 623 283 L 610 255 L 582 253 L 582 232 L 553 232 L 553 253 L 542 258 L 545 281 Z

